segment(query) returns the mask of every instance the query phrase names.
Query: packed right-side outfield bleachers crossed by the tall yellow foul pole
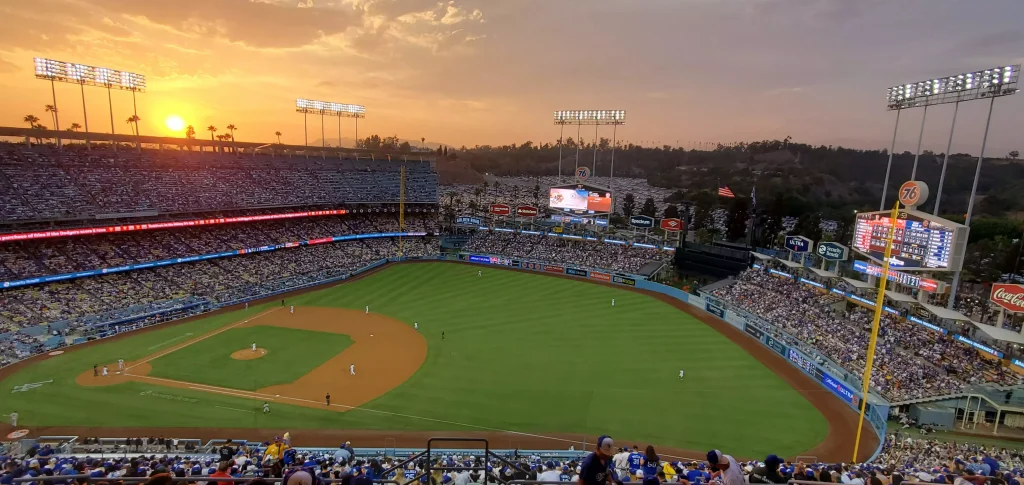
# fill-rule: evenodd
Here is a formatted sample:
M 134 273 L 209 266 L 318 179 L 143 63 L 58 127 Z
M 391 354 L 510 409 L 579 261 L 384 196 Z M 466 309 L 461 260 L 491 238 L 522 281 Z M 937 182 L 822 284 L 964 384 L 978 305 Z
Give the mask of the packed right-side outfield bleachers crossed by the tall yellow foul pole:
M 867 311 L 838 312 L 822 305 L 820 292 L 758 269 L 714 294 L 813 346 L 848 371 L 863 373 L 871 322 Z M 871 374 L 871 386 L 883 396 L 894 402 L 941 396 L 985 382 L 1010 386 L 1024 378 L 959 341 L 885 314 Z

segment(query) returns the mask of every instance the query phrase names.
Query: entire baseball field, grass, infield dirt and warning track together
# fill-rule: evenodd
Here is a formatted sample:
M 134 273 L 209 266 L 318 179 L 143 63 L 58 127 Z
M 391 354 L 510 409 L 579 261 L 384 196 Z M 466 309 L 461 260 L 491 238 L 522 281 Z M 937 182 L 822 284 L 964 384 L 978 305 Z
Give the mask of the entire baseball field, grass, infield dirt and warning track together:
M 581 449 L 609 434 L 681 457 L 852 453 L 856 416 L 828 391 L 729 325 L 638 291 L 417 263 L 285 298 L 8 367 L 0 414 L 51 435 Z

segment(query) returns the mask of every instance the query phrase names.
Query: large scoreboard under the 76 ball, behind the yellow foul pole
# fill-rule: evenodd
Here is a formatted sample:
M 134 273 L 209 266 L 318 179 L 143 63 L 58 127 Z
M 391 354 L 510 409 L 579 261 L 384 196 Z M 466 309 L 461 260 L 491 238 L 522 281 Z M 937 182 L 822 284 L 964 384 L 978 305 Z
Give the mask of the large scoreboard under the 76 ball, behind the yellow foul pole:
M 853 249 L 883 263 L 893 225 L 891 215 L 890 211 L 858 214 Z M 895 224 L 891 269 L 958 271 L 964 265 L 969 227 L 909 210 L 900 211 Z

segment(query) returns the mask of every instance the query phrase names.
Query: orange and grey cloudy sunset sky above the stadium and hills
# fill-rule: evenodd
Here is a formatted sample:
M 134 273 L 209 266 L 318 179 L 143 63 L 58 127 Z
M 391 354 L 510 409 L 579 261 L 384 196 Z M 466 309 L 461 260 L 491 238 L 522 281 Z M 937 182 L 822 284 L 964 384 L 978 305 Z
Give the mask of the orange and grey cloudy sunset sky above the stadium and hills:
M 881 148 L 887 87 L 1021 62 L 1022 18 L 1021 0 L 0 1 L 0 125 L 50 125 L 43 56 L 145 74 L 142 134 L 174 134 L 179 116 L 200 137 L 233 123 L 240 140 L 301 144 L 307 97 L 365 104 L 362 136 L 456 146 L 554 141 L 555 109 L 626 109 L 631 142 Z M 82 123 L 78 86 L 56 95 L 61 128 Z M 105 91 L 86 101 L 90 129 L 110 132 Z M 987 107 L 961 107 L 953 151 L 977 153 Z M 114 109 L 129 133 L 130 94 Z M 914 149 L 921 113 L 903 114 L 897 150 Z M 945 149 L 951 116 L 930 109 L 926 148 Z M 1024 94 L 996 101 L 988 146 L 1024 149 Z

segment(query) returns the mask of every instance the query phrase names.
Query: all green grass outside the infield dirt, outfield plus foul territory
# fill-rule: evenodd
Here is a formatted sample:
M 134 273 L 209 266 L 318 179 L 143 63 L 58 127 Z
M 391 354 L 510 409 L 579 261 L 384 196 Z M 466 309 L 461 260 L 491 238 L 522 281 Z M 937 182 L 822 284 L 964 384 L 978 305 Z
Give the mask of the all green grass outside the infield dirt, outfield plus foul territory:
M 444 426 L 455 432 L 486 427 L 589 439 L 610 434 L 744 456 L 797 454 L 828 431 L 806 399 L 725 337 L 662 301 L 614 288 L 480 266 L 408 264 L 288 304 L 370 305 L 410 325 L 418 322 L 427 359 L 403 385 L 364 406 L 387 413 L 281 404 L 269 417 L 254 414 L 255 427 L 438 430 L 437 422 L 416 417 L 422 416 L 450 422 Z M 248 418 L 221 407 L 259 403 L 140 383 L 74 384 L 97 358 L 138 358 L 167 339 L 209 332 L 242 315 L 217 315 L 34 364 L 0 383 L 0 413 L 16 408 L 31 425 L 206 426 Z M 679 369 L 686 370 L 682 382 Z M 55 382 L 9 394 L 14 385 L 48 379 Z M 199 401 L 141 396 L 148 389 Z

